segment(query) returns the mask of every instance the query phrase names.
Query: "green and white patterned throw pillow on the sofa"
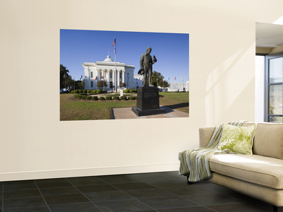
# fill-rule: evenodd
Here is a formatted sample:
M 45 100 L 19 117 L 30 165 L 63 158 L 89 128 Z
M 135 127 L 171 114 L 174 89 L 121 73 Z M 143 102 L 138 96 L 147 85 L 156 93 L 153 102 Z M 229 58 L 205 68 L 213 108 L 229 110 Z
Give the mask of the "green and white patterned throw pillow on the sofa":
M 223 124 L 223 131 L 219 145 L 220 151 L 238 153 L 243 155 L 253 155 L 253 137 L 255 136 L 255 125 L 252 126 L 232 126 Z

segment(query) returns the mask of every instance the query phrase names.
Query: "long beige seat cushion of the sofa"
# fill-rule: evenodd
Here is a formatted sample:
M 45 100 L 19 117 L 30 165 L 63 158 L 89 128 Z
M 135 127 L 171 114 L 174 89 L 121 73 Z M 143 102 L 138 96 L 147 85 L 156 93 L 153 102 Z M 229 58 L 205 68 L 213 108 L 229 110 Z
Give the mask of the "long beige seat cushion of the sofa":
M 212 172 L 260 184 L 273 189 L 283 189 L 283 160 L 261 155 L 213 155 L 209 160 Z

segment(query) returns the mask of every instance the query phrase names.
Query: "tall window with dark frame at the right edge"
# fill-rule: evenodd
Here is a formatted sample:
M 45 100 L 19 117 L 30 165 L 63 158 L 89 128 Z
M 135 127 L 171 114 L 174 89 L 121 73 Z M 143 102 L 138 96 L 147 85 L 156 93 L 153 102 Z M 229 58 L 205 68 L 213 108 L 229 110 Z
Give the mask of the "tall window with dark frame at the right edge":
M 283 53 L 265 60 L 265 122 L 283 122 Z

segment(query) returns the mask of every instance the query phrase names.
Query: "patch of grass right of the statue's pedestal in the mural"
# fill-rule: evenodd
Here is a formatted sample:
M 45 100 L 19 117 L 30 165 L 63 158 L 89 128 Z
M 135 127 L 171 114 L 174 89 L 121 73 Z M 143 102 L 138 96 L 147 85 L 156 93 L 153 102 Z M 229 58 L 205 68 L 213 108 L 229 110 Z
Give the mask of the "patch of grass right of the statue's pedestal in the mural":
M 189 113 L 189 93 L 159 93 L 159 104 Z

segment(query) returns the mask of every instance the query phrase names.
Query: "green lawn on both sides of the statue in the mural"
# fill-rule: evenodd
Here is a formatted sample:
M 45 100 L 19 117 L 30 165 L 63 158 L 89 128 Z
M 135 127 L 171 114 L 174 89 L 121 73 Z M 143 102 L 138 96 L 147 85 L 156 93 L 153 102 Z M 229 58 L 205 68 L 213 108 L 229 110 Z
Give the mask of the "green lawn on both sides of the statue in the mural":
M 189 113 L 189 93 L 159 93 L 160 105 Z M 74 94 L 60 94 L 60 120 L 112 119 L 112 108 L 136 107 L 137 100 L 92 101 L 73 98 Z

